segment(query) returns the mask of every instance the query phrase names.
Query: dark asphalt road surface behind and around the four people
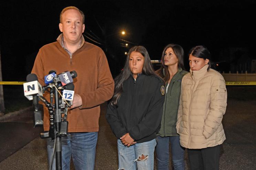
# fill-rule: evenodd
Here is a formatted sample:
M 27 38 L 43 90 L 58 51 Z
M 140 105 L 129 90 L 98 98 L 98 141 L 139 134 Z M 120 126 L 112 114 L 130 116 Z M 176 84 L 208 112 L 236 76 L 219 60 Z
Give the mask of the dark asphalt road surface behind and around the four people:
M 255 169 L 255 102 L 256 101 L 228 100 L 227 111 L 223 118 L 223 126 L 227 140 L 221 148 L 220 170 Z M 102 104 L 101 108 L 102 112 L 99 120 L 100 130 L 98 134 L 95 169 L 116 170 L 118 169 L 116 138 L 105 120 L 106 104 Z M 4 157 L 4 160 L 0 162 L 1 170 L 45 170 L 48 168 L 45 149 L 46 142 L 44 139 L 40 139 L 38 136 L 36 137 L 31 120 L 32 112 L 28 112 L 8 120 L 8 122 L 12 123 L 0 123 L 0 153 L 2 153 L 1 155 Z M 30 138 L 23 138 L 22 135 L 18 135 L 18 133 L 25 131 L 29 133 L 28 136 L 30 136 Z M 10 155 L 8 150 L 5 149 L 7 140 L 9 148 L 13 148 L 17 143 L 23 143 L 23 146 L 20 146 L 20 148 L 16 147 L 16 150 L 14 149 L 16 152 L 12 150 L 12 155 Z M 3 145 L 4 142 L 5 145 Z M 186 155 L 185 161 L 186 170 L 189 170 Z M 71 169 L 74 168 L 72 167 Z

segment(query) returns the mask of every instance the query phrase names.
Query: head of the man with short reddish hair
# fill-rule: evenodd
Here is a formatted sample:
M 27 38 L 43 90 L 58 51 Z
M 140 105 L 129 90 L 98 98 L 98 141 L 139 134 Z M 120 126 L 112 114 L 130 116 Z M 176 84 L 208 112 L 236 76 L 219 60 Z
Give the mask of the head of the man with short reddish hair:
M 61 22 L 59 28 L 63 33 L 65 43 L 76 44 L 80 42 L 85 28 L 82 14 L 75 9 L 69 9 L 62 14 Z

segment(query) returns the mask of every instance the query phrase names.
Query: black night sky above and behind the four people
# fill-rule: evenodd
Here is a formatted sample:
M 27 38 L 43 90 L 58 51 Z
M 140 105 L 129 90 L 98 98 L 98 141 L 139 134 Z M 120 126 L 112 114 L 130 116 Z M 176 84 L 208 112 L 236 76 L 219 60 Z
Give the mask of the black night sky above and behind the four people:
M 128 51 L 120 46 L 119 38 L 145 46 L 151 59 L 160 59 L 169 43 L 180 44 L 185 57 L 189 48 L 199 44 L 209 48 L 215 61 L 223 60 L 219 52 L 231 47 L 246 48 L 255 57 L 255 0 L 1 1 L 3 81 L 25 80 L 39 48 L 60 34 L 59 13 L 71 5 L 85 13 L 87 32 L 104 40 L 98 22 L 109 35 L 106 54 L 114 75 Z M 120 37 L 123 29 L 127 35 Z M 105 50 L 104 45 L 99 46 Z

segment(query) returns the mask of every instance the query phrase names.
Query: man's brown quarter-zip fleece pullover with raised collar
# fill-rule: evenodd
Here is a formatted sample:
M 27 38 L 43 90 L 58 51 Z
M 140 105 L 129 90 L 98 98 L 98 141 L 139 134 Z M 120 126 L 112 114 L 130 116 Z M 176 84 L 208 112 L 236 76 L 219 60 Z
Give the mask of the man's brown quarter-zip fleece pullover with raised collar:
M 57 42 L 47 44 L 39 49 L 32 73 L 44 86 L 44 76 L 50 70 L 57 74 L 64 71 L 77 72 L 73 79 L 75 93 L 82 97 L 82 106 L 68 111 L 68 132 L 97 132 L 99 129 L 100 104 L 109 100 L 114 92 L 114 80 L 111 76 L 107 58 L 103 50 L 84 41 L 81 37 L 81 46 L 72 54 L 72 57 L 61 46 L 63 34 Z M 50 102 L 49 92 L 44 97 Z M 49 112 L 44 107 L 44 130 L 50 126 Z

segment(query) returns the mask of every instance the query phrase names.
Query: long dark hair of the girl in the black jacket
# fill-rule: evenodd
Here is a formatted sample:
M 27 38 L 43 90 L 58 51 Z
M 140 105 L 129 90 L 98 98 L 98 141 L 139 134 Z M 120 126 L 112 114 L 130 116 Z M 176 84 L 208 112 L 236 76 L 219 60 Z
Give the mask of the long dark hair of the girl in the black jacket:
M 144 57 L 144 63 L 143 63 L 143 69 L 142 69 L 143 74 L 145 74 L 147 76 L 150 76 L 150 75 L 157 76 L 156 73 L 154 72 L 153 66 L 151 64 L 151 60 L 149 58 L 147 49 L 143 46 L 134 46 L 134 47 L 132 47 L 129 50 L 128 55 L 126 57 L 124 69 L 115 78 L 114 95 L 113 95 L 112 99 L 110 100 L 111 105 L 117 106 L 117 102 L 118 102 L 118 100 L 121 96 L 121 93 L 123 91 L 122 83 L 125 80 L 127 80 L 132 74 L 132 72 L 130 70 L 130 67 L 129 67 L 129 58 L 130 58 L 130 55 L 131 55 L 132 52 L 138 52 Z

